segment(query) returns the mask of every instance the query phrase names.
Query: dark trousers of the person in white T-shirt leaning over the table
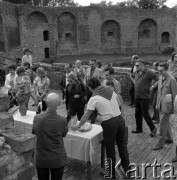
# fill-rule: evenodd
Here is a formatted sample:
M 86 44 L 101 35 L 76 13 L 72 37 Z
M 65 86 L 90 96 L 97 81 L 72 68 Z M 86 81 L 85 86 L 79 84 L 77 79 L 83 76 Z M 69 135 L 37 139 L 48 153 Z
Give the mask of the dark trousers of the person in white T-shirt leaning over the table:
M 103 128 L 103 141 L 106 148 L 106 156 L 112 161 L 112 177 L 115 177 L 115 143 L 117 144 L 119 156 L 121 158 L 122 167 L 125 172 L 129 170 L 129 155 L 127 150 L 127 129 L 125 127 L 125 120 L 120 115 L 103 121 L 101 124 Z

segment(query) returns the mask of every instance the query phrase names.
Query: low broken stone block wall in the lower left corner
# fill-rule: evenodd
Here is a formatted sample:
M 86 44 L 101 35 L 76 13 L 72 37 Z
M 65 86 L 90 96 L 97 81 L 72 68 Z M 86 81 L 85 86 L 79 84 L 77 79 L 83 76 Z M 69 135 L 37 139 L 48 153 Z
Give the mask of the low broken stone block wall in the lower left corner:
M 0 97 L 0 180 L 32 180 L 35 175 L 36 136 L 14 128 L 12 114 L 6 112 L 8 95 Z M 3 102 L 4 101 L 4 102 Z

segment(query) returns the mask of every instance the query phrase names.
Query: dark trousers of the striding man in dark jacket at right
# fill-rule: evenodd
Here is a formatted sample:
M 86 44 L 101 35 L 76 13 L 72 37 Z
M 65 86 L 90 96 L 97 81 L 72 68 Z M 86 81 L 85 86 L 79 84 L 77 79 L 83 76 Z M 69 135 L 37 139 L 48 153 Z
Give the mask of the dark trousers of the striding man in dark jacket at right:
M 153 131 L 155 126 L 152 122 L 149 114 L 150 99 L 135 99 L 135 119 L 136 119 L 136 130 L 142 131 L 143 129 L 143 118 L 145 119 L 150 130 Z

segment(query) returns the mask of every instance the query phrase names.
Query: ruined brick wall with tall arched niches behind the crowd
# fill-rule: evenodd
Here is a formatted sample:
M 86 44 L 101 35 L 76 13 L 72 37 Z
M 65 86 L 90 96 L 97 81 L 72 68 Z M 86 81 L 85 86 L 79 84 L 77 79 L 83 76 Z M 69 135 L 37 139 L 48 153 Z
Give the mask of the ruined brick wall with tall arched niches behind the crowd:
M 42 60 L 70 54 L 160 53 L 165 47 L 176 47 L 175 9 L 2 4 L 1 52 L 29 47 L 34 59 Z

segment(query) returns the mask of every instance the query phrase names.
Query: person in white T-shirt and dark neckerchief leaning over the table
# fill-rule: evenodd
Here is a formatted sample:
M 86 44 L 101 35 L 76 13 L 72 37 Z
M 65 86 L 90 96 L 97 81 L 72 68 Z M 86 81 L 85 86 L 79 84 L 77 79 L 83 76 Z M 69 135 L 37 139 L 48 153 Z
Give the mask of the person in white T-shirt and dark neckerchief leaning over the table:
M 106 155 L 112 162 L 112 179 L 115 179 L 115 143 L 118 146 L 119 156 L 122 166 L 127 173 L 129 170 L 129 154 L 127 150 L 127 131 L 125 120 L 121 116 L 117 102 L 117 94 L 110 87 L 103 87 L 96 77 L 91 77 L 87 81 L 89 89 L 93 95 L 90 98 L 87 109 L 80 122 L 72 127 L 72 130 L 78 130 L 90 117 L 96 109 L 101 116 L 101 126 L 103 128 L 103 141 L 106 148 Z

